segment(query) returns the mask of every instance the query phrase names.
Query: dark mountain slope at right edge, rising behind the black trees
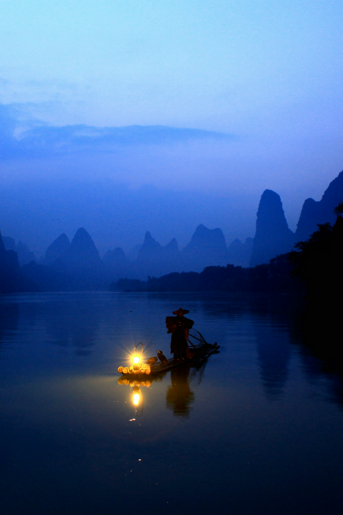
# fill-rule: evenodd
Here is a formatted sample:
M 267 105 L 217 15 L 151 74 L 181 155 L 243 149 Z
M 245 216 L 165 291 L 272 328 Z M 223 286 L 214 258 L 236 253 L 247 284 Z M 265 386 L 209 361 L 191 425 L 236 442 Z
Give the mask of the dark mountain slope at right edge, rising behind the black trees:
M 318 229 L 317 224 L 335 223 L 333 209 L 343 201 L 343 172 L 331 181 L 321 200 L 307 198 L 303 204 L 295 233 L 295 241 L 307 240 Z

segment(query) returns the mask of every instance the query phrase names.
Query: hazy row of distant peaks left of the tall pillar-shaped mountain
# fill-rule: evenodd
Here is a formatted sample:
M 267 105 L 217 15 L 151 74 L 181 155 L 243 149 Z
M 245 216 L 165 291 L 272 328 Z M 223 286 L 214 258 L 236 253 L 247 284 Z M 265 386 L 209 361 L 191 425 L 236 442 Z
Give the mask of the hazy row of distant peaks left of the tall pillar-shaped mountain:
M 252 238 L 240 244 L 240 265 L 246 265 L 251 245 Z M 26 264 L 23 272 L 42 290 L 101 290 L 107 289 L 111 281 L 125 277 L 141 280 L 185 270 L 202 271 L 207 265 L 227 264 L 229 257 L 222 230 L 204 225 L 196 228 L 182 251 L 175 238 L 163 247 L 147 231 L 143 244 L 137 245 L 132 254 L 137 257 L 130 260 L 117 247 L 107 251 L 101 260 L 91 236 L 81 228 L 71 242 L 66 234 L 61 234 L 47 248 L 44 264 Z

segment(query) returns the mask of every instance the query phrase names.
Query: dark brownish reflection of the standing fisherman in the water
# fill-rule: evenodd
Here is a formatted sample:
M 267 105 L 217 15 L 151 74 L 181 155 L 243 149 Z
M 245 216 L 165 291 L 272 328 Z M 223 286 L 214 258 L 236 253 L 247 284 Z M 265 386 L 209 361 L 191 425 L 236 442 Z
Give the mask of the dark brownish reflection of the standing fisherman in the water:
M 191 404 L 195 401 L 189 387 L 190 365 L 182 365 L 171 370 L 171 386 L 167 389 L 167 408 L 172 409 L 176 417 L 189 417 Z

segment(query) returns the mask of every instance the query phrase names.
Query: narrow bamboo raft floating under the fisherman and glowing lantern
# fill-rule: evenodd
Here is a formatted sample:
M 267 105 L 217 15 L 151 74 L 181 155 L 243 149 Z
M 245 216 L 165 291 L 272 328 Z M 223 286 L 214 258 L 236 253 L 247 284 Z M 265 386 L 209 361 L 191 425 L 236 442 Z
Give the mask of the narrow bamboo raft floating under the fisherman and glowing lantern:
M 156 376 L 157 374 L 163 374 L 163 372 L 167 372 L 175 367 L 180 367 L 185 365 L 185 363 L 190 363 L 191 361 L 196 361 L 198 358 L 208 358 L 211 354 L 217 354 L 220 348 L 220 345 L 217 343 L 208 343 L 204 339 L 204 336 L 197 331 L 192 330 L 193 333 L 189 332 L 189 337 L 193 341 L 197 341 L 198 343 L 193 344 L 189 347 L 189 357 L 183 360 L 170 358 L 165 363 L 157 362 L 155 365 L 147 365 L 146 363 L 143 365 L 131 365 L 130 367 L 119 367 L 119 374 L 123 374 L 128 378 L 139 378 L 142 376 Z

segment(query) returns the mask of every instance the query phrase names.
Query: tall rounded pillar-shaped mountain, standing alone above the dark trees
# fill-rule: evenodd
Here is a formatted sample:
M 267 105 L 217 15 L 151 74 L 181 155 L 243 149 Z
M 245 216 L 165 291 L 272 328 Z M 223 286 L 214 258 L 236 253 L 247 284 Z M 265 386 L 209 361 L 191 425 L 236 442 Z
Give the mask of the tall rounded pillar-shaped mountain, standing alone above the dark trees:
M 268 263 L 276 255 L 292 250 L 294 233 L 288 228 L 280 196 L 265 190 L 257 211 L 256 233 L 250 266 Z

